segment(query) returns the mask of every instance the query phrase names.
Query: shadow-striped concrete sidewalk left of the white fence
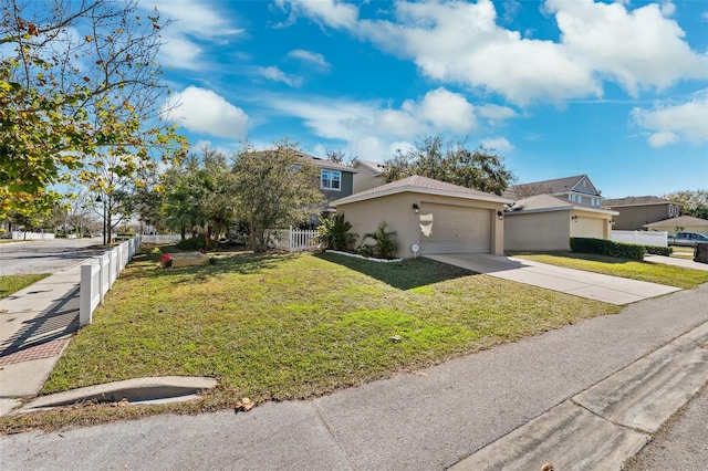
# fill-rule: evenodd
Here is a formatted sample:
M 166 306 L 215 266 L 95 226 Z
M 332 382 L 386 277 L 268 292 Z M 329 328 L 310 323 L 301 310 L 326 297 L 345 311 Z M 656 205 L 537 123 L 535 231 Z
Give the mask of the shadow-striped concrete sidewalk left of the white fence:
M 40 391 L 79 328 L 80 281 L 75 264 L 0 300 L 0 415 Z

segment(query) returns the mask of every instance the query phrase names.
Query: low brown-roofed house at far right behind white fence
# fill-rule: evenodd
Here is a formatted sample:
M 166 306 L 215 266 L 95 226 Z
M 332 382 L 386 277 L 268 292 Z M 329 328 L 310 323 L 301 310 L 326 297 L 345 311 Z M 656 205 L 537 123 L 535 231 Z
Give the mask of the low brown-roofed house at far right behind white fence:
M 620 212 L 614 218 L 614 229 L 620 231 L 641 231 L 646 224 L 677 218 L 680 213 L 676 202 L 655 196 L 607 198 L 602 206 Z

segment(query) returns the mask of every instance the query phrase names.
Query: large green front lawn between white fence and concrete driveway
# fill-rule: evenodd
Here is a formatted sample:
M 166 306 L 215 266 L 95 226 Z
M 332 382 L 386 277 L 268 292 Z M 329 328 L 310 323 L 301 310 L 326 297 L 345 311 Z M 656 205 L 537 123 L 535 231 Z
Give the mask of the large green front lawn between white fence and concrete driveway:
M 158 259 L 126 268 L 42 393 L 163 375 L 219 386 L 195 404 L 66 408 L 0 418 L 0 430 L 312 398 L 620 311 L 427 259 L 225 253 L 167 270 Z

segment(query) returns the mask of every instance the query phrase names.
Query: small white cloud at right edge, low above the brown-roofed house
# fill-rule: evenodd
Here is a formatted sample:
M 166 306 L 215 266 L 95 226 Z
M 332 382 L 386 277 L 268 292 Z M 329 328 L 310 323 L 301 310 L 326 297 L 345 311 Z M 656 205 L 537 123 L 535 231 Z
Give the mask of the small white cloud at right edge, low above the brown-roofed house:
M 680 105 L 656 105 L 653 109 L 634 108 L 632 118 L 652 133 L 652 147 L 677 142 L 708 143 L 708 97 Z

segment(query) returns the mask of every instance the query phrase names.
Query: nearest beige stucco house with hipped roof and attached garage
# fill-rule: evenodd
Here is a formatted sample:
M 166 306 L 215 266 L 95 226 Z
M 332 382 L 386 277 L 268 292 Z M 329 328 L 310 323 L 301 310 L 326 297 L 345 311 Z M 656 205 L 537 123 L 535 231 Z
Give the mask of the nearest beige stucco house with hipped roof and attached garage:
M 412 176 L 332 201 L 352 231 L 373 232 L 383 220 L 396 231 L 396 257 L 504 251 L 503 209 L 497 195 Z

